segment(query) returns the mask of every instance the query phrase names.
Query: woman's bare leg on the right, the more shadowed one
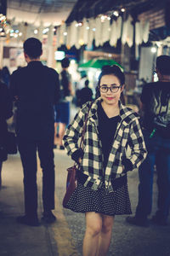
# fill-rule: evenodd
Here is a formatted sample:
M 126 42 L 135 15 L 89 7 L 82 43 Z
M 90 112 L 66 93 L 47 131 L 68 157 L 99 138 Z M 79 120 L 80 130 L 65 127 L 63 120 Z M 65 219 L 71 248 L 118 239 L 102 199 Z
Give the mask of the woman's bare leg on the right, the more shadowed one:
M 111 242 L 111 231 L 114 223 L 113 216 L 102 214 L 102 229 L 99 234 L 99 247 L 96 256 L 106 256 Z

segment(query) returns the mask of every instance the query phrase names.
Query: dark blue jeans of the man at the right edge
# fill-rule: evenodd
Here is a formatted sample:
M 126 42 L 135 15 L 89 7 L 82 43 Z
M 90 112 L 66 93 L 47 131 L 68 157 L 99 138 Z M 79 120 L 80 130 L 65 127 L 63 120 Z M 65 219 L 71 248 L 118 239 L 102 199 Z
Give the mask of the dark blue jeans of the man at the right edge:
M 157 218 L 167 221 L 170 207 L 170 139 L 144 130 L 144 142 L 148 155 L 139 166 L 139 203 L 136 217 L 146 219 L 152 208 L 154 166 L 157 172 Z

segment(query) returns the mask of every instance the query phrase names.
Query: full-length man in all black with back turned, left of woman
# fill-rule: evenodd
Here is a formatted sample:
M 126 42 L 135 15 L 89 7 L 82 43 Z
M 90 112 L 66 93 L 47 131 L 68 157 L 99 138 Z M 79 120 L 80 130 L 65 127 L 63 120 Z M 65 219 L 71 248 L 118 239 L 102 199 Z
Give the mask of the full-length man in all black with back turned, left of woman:
M 42 220 L 55 221 L 54 209 L 54 104 L 59 98 L 59 74 L 42 65 L 42 43 L 24 43 L 27 67 L 11 75 L 10 90 L 17 101 L 16 133 L 24 169 L 25 215 L 20 224 L 39 225 L 37 217 L 37 152 L 42 167 Z

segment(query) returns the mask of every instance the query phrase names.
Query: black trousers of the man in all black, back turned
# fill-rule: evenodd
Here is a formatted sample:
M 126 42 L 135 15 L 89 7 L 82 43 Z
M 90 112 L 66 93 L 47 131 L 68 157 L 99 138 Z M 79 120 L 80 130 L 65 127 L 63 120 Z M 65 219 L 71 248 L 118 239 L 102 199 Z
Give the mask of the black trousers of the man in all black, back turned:
M 25 212 L 37 216 L 37 153 L 42 167 L 42 201 L 44 210 L 54 209 L 54 138 L 26 140 L 18 137 L 20 158 L 24 169 Z

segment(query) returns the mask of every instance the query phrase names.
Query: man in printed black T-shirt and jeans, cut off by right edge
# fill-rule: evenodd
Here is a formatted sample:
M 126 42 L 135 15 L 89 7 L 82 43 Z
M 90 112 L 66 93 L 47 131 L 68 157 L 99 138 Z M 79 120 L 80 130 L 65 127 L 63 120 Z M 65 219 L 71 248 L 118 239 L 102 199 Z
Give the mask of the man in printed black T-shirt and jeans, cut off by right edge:
M 148 155 L 139 167 L 139 201 L 134 217 L 127 222 L 148 226 L 152 208 L 153 177 L 157 172 L 157 211 L 151 218 L 166 225 L 170 207 L 170 56 L 156 58 L 158 81 L 144 84 L 141 95 L 143 133 Z

